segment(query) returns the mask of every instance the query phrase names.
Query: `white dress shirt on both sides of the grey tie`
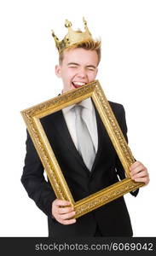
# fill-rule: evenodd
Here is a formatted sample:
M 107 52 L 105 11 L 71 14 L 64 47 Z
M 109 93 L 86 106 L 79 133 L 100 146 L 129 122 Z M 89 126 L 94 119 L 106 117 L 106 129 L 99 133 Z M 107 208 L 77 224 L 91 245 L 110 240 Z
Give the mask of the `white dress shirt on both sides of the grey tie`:
M 98 135 L 97 135 L 97 125 L 96 125 L 96 118 L 95 118 L 95 108 L 90 98 L 87 98 L 86 100 L 81 102 L 81 105 L 84 106 L 83 112 L 82 112 L 82 118 L 84 119 L 87 125 L 87 128 L 90 131 L 90 136 L 94 143 L 95 153 L 96 153 L 97 147 L 98 147 Z M 75 144 L 75 147 L 78 149 L 78 140 L 77 140 L 76 126 L 75 126 L 76 115 L 73 108 L 74 106 L 75 104 L 69 107 L 63 108 L 62 112 L 66 120 L 67 128 L 72 137 L 72 141 Z

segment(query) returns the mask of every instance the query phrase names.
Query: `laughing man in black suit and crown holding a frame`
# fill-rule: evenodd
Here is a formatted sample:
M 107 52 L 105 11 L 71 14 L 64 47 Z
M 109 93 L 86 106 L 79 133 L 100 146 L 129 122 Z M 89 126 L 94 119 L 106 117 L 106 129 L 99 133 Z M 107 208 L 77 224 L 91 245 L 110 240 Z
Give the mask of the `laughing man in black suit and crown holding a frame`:
M 85 32 L 73 32 L 71 22 L 66 20 L 68 34 L 61 42 L 53 33 L 60 54 L 55 73 L 62 79 L 62 93 L 94 81 L 98 71 L 101 42 L 91 37 L 85 20 L 84 26 Z M 110 104 L 127 140 L 124 108 L 118 103 L 110 102 Z M 77 114 L 78 105 L 81 105 L 79 106 L 81 112 Z M 118 155 L 101 123 L 94 103 L 89 98 L 78 105 L 70 106 L 42 119 L 43 129 L 75 201 L 118 182 L 118 177 L 120 179 L 125 177 L 123 166 L 118 160 Z M 78 124 L 78 116 L 83 116 L 83 113 L 84 120 L 79 122 L 85 123 L 85 131 L 82 130 L 80 135 L 80 137 L 84 136 L 84 139 L 79 139 L 78 132 L 82 129 L 82 124 Z M 83 147 L 86 147 L 84 152 L 83 143 Z M 89 152 L 87 157 L 84 156 L 85 152 Z M 139 161 L 130 166 L 130 176 L 136 182 L 145 184 L 149 182 L 147 168 Z M 28 195 L 48 216 L 49 236 L 133 235 L 123 196 L 75 219 L 75 212 L 70 203 L 56 199 L 49 181 L 45 181 L 42 163 L 29 134 L 27 134 L 26 160 L 21 182 Z M 138 189 L 130 192 L 135 196 L 137 193 Z

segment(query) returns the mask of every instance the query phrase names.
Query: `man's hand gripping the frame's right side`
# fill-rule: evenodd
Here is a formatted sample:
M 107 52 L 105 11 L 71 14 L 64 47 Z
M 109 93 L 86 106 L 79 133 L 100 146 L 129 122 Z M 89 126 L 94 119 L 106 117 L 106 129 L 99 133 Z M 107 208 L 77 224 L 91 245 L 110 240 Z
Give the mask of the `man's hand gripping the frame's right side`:
M 130 177 L 139 183 L 145 183 L 146 185 L 149 183 L 147 168 L 139 161 L 130 166 Z

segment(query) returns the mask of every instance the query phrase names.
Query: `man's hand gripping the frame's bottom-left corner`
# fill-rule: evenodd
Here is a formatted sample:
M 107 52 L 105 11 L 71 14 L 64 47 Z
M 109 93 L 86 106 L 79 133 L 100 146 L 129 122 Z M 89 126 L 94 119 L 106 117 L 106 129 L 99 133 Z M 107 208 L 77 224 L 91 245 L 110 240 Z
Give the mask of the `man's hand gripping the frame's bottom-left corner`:
M 76 219 L 73 218 L 75 212 L 69 201 L 55 199 L 52 203 L 52 215 L 61 224 L 74 224 Z

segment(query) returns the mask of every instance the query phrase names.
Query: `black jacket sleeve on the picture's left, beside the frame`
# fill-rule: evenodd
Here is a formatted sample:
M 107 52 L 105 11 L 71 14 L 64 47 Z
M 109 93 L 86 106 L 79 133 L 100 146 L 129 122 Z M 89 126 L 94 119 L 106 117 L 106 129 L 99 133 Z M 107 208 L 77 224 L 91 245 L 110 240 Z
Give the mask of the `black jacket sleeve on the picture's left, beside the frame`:
M 26 139 L 26 158 L 21 183 L 25 187 L 27 194 L 36 205 L 48 216 L 52 217 L 51 206 L 55 200 L 55 192 L 50 183 L 43 176 L 43 165 L 38 157 L 36 148 L 27 132 Z

